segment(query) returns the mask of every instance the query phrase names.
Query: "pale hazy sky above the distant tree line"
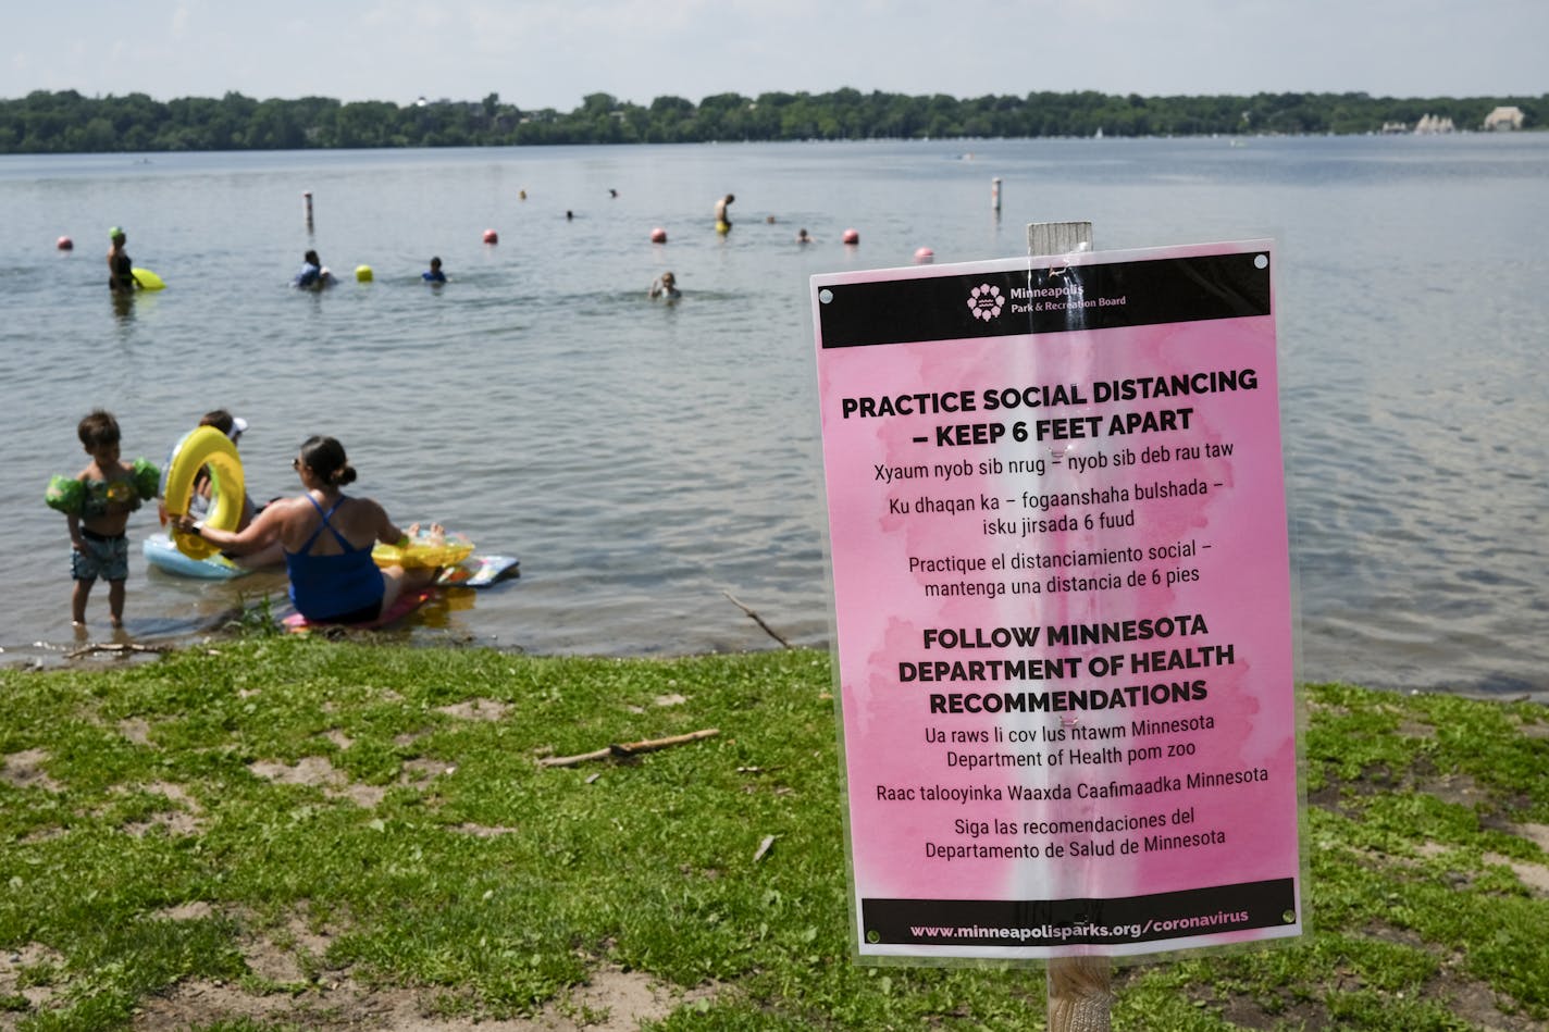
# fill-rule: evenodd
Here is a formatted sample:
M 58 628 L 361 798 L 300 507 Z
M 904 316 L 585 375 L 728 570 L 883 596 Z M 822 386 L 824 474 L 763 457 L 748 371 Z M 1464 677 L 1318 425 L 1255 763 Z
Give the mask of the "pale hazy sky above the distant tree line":
M 8 0 L 0 99 L 1549 93 L 1549 0 Z

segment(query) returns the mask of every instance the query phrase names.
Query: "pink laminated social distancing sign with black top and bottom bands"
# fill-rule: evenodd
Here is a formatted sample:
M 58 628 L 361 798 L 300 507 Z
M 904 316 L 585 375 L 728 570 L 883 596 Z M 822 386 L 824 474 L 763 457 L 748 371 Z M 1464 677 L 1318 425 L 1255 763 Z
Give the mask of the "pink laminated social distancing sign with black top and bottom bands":
M 1272 259 L 813 277 L 861 958 L 1301 933 Z

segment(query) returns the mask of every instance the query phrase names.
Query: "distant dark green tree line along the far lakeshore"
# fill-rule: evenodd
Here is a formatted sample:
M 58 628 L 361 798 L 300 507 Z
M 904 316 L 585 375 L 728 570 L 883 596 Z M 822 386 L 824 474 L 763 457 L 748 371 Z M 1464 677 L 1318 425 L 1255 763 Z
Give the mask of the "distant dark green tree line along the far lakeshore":
M 708 143 L 774 139 L 954 139 L 1036 136 L 1197 136 L 1372 133 L 1424 115 L 1478 129 L 1496 105 L 1516 105 L 1541 129 L 1549 95 L 1372 98 L 1365 93 L 1253 96 L 1109 96 L 1029 93 L 957 99 L 900 93 L 739 93 L 699 104 L 649 105 L 592 93 L 568 113 L 482 101 L 344 104 L 327 98 L 256 101 L 240 93 L 153 101 L 144 93 L 85 98 L 37 90 L 0 99 L 0 153 L 113 150 L 304 150 L 333 147 L 479 147 L 525 144 Z

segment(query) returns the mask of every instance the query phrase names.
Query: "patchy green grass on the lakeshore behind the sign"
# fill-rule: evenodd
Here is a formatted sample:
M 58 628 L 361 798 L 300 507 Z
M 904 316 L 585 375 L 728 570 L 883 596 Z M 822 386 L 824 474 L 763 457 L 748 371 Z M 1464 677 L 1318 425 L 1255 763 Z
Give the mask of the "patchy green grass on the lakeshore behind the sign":
M 285 637 L 0 671 L 0 1029 L 130 1027 L 191 986 L 263 1007 L 169 1027 L 367 1027 L 341 984 L 584 1021 L 601 965 L 696 990 L 663 1029 L 1042 1027 L 1036 967 L 850 962 L 829 690 L 810 651 Z M 1117 968 L 1114 1027 L 1549 1021 L 1549 896 L 1510 866 L 1549 865 L 1521 831 L 1549 824 L 1549 711 L 1304 694 L 1309 934 Z

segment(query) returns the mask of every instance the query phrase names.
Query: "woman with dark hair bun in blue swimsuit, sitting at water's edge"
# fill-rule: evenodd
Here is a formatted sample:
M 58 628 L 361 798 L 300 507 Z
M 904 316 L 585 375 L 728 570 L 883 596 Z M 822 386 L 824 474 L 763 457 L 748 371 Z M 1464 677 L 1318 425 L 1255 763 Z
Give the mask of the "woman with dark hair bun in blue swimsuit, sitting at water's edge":
M 311 623 L 370 623 L 404 589 L 424 587 L 435 578 L 432 569 L 384 569 L 372 559 L 378 541 L 404 544 L 407 536 L 372 499 L 344 494 L 355 482 L 344 445 L 331 437 L 308 437 L 291 466 L 305 491 L 270 502 L 245 530 L 203 527 L 186 516 L 178 527 L 234 555 L 277 541 L 285 549 L 291 603 Z

